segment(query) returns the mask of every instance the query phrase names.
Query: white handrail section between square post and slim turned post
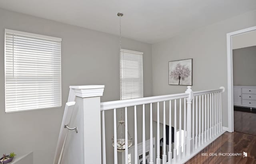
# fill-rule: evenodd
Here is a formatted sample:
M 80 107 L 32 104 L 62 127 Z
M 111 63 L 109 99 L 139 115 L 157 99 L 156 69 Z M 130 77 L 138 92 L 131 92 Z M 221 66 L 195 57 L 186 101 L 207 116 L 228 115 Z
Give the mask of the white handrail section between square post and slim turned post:
M 107 101 L 107 102 L 100 103 L 100 110 L 105 111 L 108 109 L 117 109 L 117 108 L 123 108 L 123 107 L 130 107 L 134 105 L 142 105 L 142 104 L 156 103 L 160 101 L 182 99 L 182 98 L 187 98 L 188 96 L 189 96 L 189 93 L 178 93 L 178 94 L 172 94 L 172 95 L 143 97 L 143 98 L 137 98 L 137 99 Z

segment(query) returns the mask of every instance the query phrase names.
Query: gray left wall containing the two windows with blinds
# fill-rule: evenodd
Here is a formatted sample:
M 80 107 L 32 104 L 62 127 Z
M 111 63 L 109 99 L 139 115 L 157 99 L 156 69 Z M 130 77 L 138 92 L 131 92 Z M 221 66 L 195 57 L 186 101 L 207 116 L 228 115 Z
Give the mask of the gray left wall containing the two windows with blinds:
M 54 158 L 64 105 L 68 99 L 69 85 L 104 84 L 105 90 L 102 101 L 120 99 L 119 38 L 102 32 L 2 9 L 0 9 L 0 22 L 0 129 L 2 131 L 0 135 L 0 154 L 10 151 L 14 151 L 16 154 L 34 151 L 35 164 L 44 164 L 45 160 L 47 160 L 47 163 L 51 163 Z M 118 20 L 116 26 L 118 27 Z M 4 112 L 5 28 L 62 38 L 61 108 L 8 114 Z M 123 38 L 122 48 L 144 52 L 144 96 L 151 96 L 151 45 Z M 111 125 L 113 124 L 112 113 L 106 114 L 106 120 Z M 132 131 L 132 126 L 130 127 Z M 141 130 L 141 128 L 138 127 L 138 130 Z M 112 142 L 112 130 L 110 129 L 109 133 L 106 134 L 110 135 L 107 142 Z M 108 156 L 113 158 L 111 153 L 108 153 Z

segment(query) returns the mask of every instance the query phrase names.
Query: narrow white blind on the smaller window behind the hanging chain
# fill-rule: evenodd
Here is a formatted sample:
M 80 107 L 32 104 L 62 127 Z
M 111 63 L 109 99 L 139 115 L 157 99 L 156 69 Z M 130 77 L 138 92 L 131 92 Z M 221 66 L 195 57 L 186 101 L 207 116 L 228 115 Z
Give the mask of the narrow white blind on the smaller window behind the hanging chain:
M 143 53 L 120 51 L 120 99 L 143 97 Z

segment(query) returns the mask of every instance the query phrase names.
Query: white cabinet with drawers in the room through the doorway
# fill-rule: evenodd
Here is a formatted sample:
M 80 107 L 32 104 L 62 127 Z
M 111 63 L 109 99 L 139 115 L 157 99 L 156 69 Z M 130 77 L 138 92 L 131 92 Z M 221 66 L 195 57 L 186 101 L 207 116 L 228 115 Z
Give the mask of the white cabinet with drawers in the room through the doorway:
M 235 106 L 256 108 L 256 86 L 234 86 L 233 93 Z

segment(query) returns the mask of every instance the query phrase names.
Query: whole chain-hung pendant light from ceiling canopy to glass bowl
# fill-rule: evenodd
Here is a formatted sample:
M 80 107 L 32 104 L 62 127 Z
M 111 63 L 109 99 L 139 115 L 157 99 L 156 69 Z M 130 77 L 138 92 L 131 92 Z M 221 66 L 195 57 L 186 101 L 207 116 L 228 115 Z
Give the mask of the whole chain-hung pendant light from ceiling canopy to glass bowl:
M 122 43 L 121 43 L 121 17 L 123 16 L 124 14 L 121 13 L 121 12 L 118 12 L 117 13 L 117 16 L 119 16 L 119 54 L 121 55 L 121 46 L 122 46 Z M 121 109 L 122 110 L 122 109 Z M 118 152 L 122 152 L 125 150 L 125 133 L 123 132 L 123 130 L 125 129 L 125 121 L 122 119 L 122 111 L 121 111 L 121 120 L 118 121 L 118 127 L 117 127 L 117 139 L 116 139 L 116 142 L 117 142 L 117 150 Z M 130 136 L 129 132 L 128 132 L 128 135 L 129 135 L 129 138 L 127 140 L 128 142 L 128 148 L 130 148 L 132 146 L 132 137 Z M 114 137 L 112 138 L 112 146 L 114 147 Z

